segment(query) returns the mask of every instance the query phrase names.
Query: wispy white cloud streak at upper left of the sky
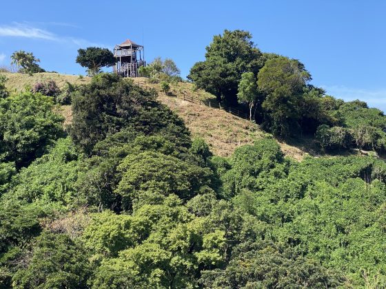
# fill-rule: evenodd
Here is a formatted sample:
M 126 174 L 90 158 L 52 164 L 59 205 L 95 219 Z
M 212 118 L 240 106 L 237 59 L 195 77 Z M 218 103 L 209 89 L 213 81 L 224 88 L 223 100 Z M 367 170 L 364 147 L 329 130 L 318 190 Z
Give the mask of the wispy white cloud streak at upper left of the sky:
M 65 23 L 61 23 L 64 25 Z M 13 23 L 13 25 L 0 25 L 0 37 L 24 37 L 29 39 L 44 39 L 48 41 L 57 41 L 61 43 L 70 43 L 77 47 L 86 46 L 101 46 L 106 47 L 107 45 L 101 45 L 100 43 L 94 43 L 86 39 L 76 38 L 72 36 L 59 36 L 48 30 L 36 28 L 28 23 Z

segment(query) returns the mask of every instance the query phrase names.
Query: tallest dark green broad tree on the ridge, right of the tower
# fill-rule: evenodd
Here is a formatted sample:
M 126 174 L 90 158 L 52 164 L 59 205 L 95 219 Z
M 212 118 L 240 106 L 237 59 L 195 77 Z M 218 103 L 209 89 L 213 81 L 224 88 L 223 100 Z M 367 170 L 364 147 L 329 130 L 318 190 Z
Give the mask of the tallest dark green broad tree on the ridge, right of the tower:
M 223 35 L 214 36 L 206 47 L 205 61 L 194 64 L 187 78 L 217 100 L 236 104 L 241 74 L 257 74 L 263 66 L 263 54 L 251 39 L 250 32 L 243 30 L 225 30 Z

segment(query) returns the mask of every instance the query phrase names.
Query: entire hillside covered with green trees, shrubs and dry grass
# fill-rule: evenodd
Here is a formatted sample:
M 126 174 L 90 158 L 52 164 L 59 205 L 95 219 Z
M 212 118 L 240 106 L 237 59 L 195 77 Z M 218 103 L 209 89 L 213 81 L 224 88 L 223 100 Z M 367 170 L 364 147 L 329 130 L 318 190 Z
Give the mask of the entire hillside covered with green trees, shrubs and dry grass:
M 251 37 L 0 73 L 0 288 L 386 288 L 386 116 Z

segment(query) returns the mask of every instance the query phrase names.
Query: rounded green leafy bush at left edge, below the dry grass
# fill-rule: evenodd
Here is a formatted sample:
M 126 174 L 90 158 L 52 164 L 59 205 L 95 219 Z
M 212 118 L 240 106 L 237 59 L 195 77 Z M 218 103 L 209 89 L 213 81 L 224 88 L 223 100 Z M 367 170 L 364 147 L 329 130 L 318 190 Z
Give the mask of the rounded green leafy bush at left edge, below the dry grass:
M 63 117 L 39 94 L 0 98 L 0 160 L 28 164 L 63 133 Z

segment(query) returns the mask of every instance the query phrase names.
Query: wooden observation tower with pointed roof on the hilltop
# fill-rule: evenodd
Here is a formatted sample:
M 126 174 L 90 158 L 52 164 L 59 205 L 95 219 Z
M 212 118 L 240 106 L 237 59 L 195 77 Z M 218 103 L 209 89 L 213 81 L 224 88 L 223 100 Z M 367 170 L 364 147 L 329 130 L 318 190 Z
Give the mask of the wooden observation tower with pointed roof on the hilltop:
M 115 45 L 114 73 L 123 77 L 138 77 L 138 69 L 146 66 L 143 46 L 127 39 L 125 42 Z

